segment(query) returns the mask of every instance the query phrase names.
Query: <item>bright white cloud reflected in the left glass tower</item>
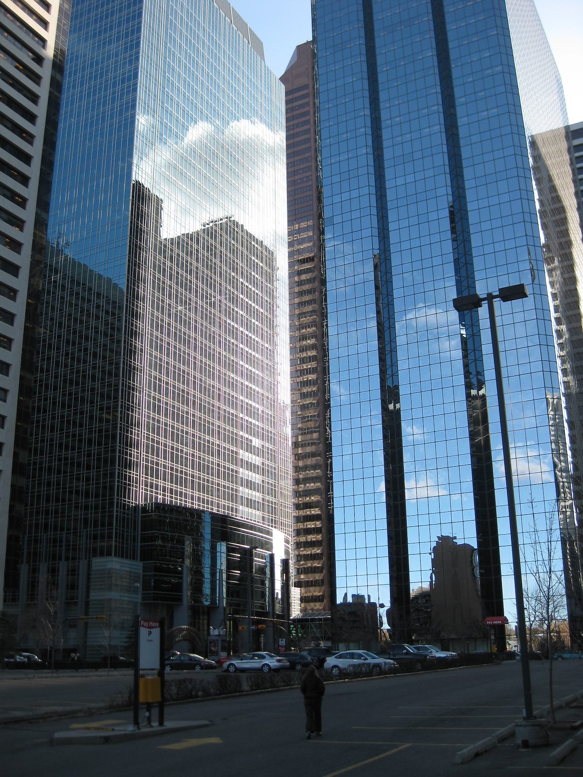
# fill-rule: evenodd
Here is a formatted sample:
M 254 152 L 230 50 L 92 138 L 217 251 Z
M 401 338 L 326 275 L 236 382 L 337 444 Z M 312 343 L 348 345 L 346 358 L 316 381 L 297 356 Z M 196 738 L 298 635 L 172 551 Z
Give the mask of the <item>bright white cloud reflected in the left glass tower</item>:
M 285 242 L 285 235 L 274 234 L 285 225 L 278 188 L 285 180 L 283 134 L 250 120 L 234 120 L 224 130 L 199 121 L 183 138 L 161 145 L 141 116 L 136 159 L 136 178 L 163 200 L 162 237 L 232 216 L 272 249 L 275 241 Z

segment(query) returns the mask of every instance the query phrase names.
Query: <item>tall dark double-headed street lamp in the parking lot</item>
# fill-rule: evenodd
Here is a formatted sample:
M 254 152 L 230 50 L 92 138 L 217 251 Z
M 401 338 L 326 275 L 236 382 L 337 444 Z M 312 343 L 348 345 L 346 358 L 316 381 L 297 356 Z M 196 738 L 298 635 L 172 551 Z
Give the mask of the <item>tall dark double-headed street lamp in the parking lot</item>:
M 500 345 L 494 312 L 494 299 L 503 302 L 511 302 L 517 299 L 525 299 L 529 296 L 525 284 L 504 286 L 498 289 L 497 294 L 488 291 L 485 297 L 480 294 L 466 294 L 464 297 L 456 297 L 453 306 L 458 312 L 477 310 L 482 307 L 482 302 L 487 302 L 488 317 L 490 319 L 490 333 L 492 337 L 492 354 L 494 357 L 494 373 L 496 375 L 496 392 L 498 399 L 498 412 L 500 413 L 500 427 L 502 436 L 502 453 L 504 455 L 504 477 L 506 480 L 506 495 L 508 497 L 508 521 L 510 522 L 510 542 L 512 550 L 512 567 L 514 571 L 514 585 L 516 595 L 516 618 L 518 621 L 518 643 L 520 644 L 520 664 L 522 667 L 522 690 L 524 693 L 524 718 L 534 720 L 532 711 L 532 689 L 530 685 L 529 649 L 526 638 L 526 621 L 524 611 L 524 593 L 522 591 L 522 570 L 520 563 L 520 545 L 518 542 L 518 524 L 516 521 L 516 503 L 514 486 L 512 484 L 512 465 L 510 458 L 510 441 L 508 437 L 508 420 L 506 417 L 506 403 L 504 402 L 504 385 L 502 383 L 502 368 L 500 361 Z

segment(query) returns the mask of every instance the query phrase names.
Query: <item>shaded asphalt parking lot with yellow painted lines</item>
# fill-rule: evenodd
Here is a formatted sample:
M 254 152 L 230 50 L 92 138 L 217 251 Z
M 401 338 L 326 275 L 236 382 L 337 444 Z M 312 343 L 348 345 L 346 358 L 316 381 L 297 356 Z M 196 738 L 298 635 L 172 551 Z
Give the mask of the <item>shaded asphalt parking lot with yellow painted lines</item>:
M 555 695 L 559 699 L 583 688 L 575 662 L 554 664 Z M 536 709 L 547 703 L 548 664 L 531 665 Z M 99 673 L 98 673 L 99 674 Z M 205 674 L 205 673 L 200 673 Z M 209 673 L 212 674 L 212 673 Z M 37 679 L 30 678 L 36 684 Z M 57 683 L 51 686 L 51 679 Z M 96 683 L 123 684 L 125 677 L 47 678 L 44 688 L 54 696 L 75 685 L 79 697 L 95 699 Z M 19 681 L 18 685 L 20 684 Z M 5 688 L 2 683 L 2 698 Z M 99 687 L 99 686 L 97 686 Z M 110 685 L 113 687 L 113 685 Z M 105 688 L 104 688 L 105 690 Z M 129 741 L 115 745 L 51 747 L 55 732 L 71 726 L 124 726 L 131 711 L 116 710 L 68 720 L 37 721 L 2 726 L 0 747 L 9 754 L 19 777 L 37 775 L 39 758 L 44 771 L 59 777 L 100 777 L 103 770 L 127 775 L 181 773 L 197 759 L 197 777 L 254 775 L 257 770 L 278 777 L 296 775 L 298 769 L 314 777 L 354 774 L 372 777 L 379 770 L 393 775 L 515 774 L 528 766 L 529 774 L 548 770 L 550 748 L 520 751 L 514 740 L 504 740 L 466 764 L 454 765 L 456 754 L 508 726 L 522 715 L 522 685 L 518 664 L 508 662 L 487 667 L 339 681 L 326 684 L 323 706 L 323 737 L 305 740 L 302 699 L 297 688 L 244 694 L 217 700 L 202 700 L 166 706 L 167 721 L 204 720 L 208 727 L 188 733 Z M 574 707 L 560 711 L 564 720 L 583 712 Z M 557 737 L 569 734 L 556 730 Z M 99 748 L 99 758 L 88 758 Z M 192 752 L 194 750 L 194 753 Z M 63 752 L 66 751 L 66 754 Z M 583 768 L 575 750 L 560 767 Z M 578 765 L 579 764 L 579 765 Z M 234 768 L 236 767 L 236 768 Z

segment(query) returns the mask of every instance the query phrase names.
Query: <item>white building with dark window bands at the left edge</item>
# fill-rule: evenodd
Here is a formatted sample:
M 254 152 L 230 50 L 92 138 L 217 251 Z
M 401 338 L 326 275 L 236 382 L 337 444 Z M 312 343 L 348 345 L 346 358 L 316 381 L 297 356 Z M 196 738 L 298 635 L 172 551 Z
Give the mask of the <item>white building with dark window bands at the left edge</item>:
M 2 4 L 0 610 L 18 598 L 30 392 L 69 5 Z

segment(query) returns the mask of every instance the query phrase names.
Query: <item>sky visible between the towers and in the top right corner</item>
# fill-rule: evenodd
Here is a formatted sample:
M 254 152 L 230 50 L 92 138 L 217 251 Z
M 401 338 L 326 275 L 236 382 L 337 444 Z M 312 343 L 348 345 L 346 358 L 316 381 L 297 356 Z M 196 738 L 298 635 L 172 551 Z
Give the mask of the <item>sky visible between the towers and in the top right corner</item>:
M 281 75 L 298 44 L 312 38 L 310 0 L 231 0 L 264 42 L 265 59 Z M 563 80 L 571 124 L 583 121 L 583 0 L 535 0 Z

